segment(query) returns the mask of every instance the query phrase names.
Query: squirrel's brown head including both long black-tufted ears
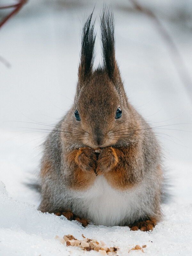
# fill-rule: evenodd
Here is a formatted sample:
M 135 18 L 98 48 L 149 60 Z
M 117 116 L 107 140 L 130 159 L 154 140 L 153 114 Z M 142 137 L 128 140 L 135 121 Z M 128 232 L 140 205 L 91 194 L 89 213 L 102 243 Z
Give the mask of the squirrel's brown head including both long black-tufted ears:
M 78 129 L 78 140 L 84 145 L 102 148 L 125 140 L 123 134 L 128 133 L 125 128 L 132 123 L 132 111 L 115 59 L 113 13 L 105 8 L 101 16 L 103 65 L 96 70 L 93 70 L 95 34 L 91 19 L 92 14 L 83 28 L 72 128 Z

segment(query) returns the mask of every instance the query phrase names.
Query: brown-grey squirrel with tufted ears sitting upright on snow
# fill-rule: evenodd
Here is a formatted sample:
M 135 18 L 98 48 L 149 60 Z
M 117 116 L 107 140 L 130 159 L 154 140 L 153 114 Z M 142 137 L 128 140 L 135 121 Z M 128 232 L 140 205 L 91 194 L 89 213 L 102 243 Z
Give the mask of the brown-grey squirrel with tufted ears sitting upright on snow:
M 83 28 L 74 104 L 44 142 L 38 209 L 83 226 L 152 230 L 162 218 L 161 149 L 125 94 L 113 13 L 104 8 L 100 18 L 103 65 L 96 70 L 91 20 Z

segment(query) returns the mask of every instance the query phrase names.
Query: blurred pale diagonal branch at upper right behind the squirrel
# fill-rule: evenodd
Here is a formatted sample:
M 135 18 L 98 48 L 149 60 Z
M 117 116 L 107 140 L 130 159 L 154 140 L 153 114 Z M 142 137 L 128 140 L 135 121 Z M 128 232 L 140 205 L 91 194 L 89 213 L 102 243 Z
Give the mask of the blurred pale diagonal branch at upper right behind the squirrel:
M 166 31 L 166 29 L 163 27 L 161 22 L 158 20 L 158 18 L 155 16 L 155 14 L 152 11 L 141 6 L 136 0 L 129 0 L 129 1 L 134 5 L 135 9 L 144 13 L 151 20 L 153 20 L 159 34 L 162 36 L 165 44 L 167 45 L 167 48 L 169 49 L 173 65 L 175 66 L 175 68 L 177 70 L 180 80 L 183 83 L 183 85 L 189 95 L 190 100 L 192 101 L 192 80 L 188 73 L 187 68 L 185 67 L 185 64 L 182 60 L 182 57 L 180 55 L 180 52 L 179 52 L 177 46 L 174 44 L 174 42 L 172 40 L 172 37 L 169 35 L 169 33 Z

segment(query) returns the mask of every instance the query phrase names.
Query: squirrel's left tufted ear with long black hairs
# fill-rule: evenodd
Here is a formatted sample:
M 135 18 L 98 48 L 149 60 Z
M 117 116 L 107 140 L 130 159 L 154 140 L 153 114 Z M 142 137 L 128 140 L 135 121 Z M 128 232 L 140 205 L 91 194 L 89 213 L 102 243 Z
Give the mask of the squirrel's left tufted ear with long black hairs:
M 92 12 L 93 14 L 93 12 Z M 81 57 L 78 69 L 79 84 L 82 86 L 92 75 L 92 67 L 94 60 L 94 45 L 95 45 L 95 33 L 94 25 L 92 23 L 92 14 L 89 16 L 84 24 L 82 39 L 81 39 Z

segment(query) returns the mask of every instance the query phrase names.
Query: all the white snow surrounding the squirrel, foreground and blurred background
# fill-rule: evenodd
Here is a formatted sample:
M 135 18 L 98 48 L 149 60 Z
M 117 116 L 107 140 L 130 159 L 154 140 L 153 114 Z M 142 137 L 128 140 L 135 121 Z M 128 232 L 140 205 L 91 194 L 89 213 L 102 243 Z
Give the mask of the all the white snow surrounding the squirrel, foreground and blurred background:
M 0 56 L 11 64 L 6 68 L 0 62 L 0 180 L 4 183 L 0 183 L 0 255 L 99 255 L 54 239 L 66 234 L 76 238 L 84 234 L 116 245 L 118 255 L 127 255 L 136 244 L 146 244 L 147 255 L 191 254 L 191 99 L 153 22 L 136 12 L 129 1 L 107 2 L 114 6 L 116 59 L 127 95 L 153 127 L 164 125 L 155 131 L 164 148 L 173 202 L 163 205 L 164 221 L 145 233 L 127 227 L 82 228 L 77 222 L 36 210 L 39 197 L 24 183 L 38 173 L 40 144 L 47 135 L 40 130 L 47 126 L 40 123 L 54 124 L 72 104 L 79 31 L 95 2 L 29 0 L 0 30 Z M 190 71 L 191 1 L 140 2 L 156 13 Z M 102 3 L 97 1 L 95 7 L 97 20 Z M 98 23 L 96 28 L 99 33 Z M 99 34 L 97 53 L 99 62 Z M 130 252 L 138 253 L 142 252 Z

